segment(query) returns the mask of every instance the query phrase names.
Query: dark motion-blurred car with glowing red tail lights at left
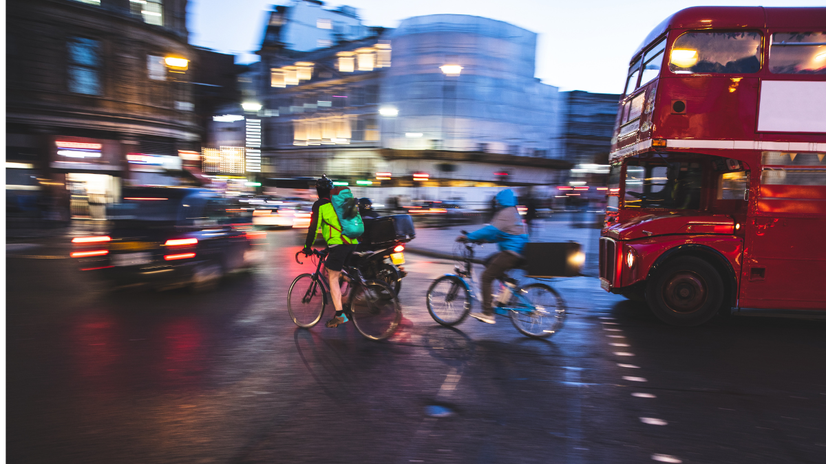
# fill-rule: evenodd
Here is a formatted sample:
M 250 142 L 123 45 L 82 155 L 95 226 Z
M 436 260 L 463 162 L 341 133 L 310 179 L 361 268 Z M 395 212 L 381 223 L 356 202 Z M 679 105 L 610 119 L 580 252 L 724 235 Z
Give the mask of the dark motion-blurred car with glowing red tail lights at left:
M 108 234 L 72 239 L 70 256 L 118 286 L 209 288 L 253 264 L 266 238 L 237 198 L 198 188 L 126 187 L 108 219 Z

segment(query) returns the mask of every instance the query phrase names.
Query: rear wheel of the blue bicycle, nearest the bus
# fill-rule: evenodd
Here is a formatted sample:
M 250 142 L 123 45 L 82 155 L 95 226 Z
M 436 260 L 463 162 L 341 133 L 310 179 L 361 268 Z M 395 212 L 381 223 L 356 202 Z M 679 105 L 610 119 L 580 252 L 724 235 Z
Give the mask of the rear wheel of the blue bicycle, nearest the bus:
M 563 328 L 565 302 L 557 291 L 544 283 L 523 286 L 518 292 L 529 301 L 532 309 L 525 307 L 525 300 L 519 296 L 510 297 L 510 322 L 522 334 L 534 339 L 544 339 Z M 515 310 L 522 309 L 522 310 Z

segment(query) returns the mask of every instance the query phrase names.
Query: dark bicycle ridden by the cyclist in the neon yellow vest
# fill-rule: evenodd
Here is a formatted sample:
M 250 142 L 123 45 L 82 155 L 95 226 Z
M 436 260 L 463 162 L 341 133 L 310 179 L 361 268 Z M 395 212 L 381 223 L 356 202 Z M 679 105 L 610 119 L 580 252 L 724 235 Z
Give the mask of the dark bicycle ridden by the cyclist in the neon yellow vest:
M 298 260 L 300 253 L 296 253 L 296 263 L 303 264 Z M 287 293 L 287 311 L 292 322 L 302 329 L 318 324 L 330 304 L 330 286 L 321 273 L 327 253 L 314 249 L 311 256 L 318 258 L 316 272 L 296 277 Z M 358 253 L 351 258 L 358 259 Z M 358 266 L 345 266 L 341 274 L 348 286 L 342 291 L 342 299 L 349 296 L 346 305 L 342 301 L 344 314 L 353 321 L 358 333 L 371 340 L 387 339 L 394 334 L 401 323 L 401 303 L 392 287 L 385 282 L 365 281 Z

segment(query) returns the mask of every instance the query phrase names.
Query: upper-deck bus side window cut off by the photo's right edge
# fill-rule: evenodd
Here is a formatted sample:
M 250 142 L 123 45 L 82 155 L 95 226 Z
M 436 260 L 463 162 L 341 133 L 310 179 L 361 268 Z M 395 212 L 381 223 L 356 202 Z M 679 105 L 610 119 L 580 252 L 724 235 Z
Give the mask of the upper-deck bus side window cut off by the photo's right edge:
M 772 34 L 769 71 L 776 74 L 826 74 L 826 32 Z

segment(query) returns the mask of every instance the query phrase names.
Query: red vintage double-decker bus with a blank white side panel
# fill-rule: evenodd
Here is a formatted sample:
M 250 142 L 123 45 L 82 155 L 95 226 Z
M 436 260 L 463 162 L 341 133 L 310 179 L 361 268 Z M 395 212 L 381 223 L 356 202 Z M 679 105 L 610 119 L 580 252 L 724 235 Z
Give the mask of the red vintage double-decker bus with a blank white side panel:
M 605 290 L 669 324 L 826 310 L 826 8 L 692 7 L 630 61 Z

